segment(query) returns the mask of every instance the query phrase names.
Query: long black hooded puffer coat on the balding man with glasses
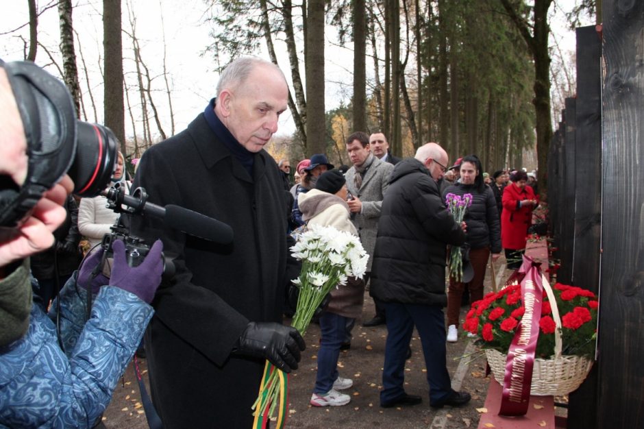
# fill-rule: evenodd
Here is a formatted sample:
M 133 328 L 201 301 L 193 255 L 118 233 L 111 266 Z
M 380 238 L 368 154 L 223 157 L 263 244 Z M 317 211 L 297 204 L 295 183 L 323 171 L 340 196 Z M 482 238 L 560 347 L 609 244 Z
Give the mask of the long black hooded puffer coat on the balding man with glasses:
M 402 160 L 382 201 L 371 295 L 384 302 L 445 306 L 446 245 L 463 243 L 465 234 L 428 169 L 415 158 Z

